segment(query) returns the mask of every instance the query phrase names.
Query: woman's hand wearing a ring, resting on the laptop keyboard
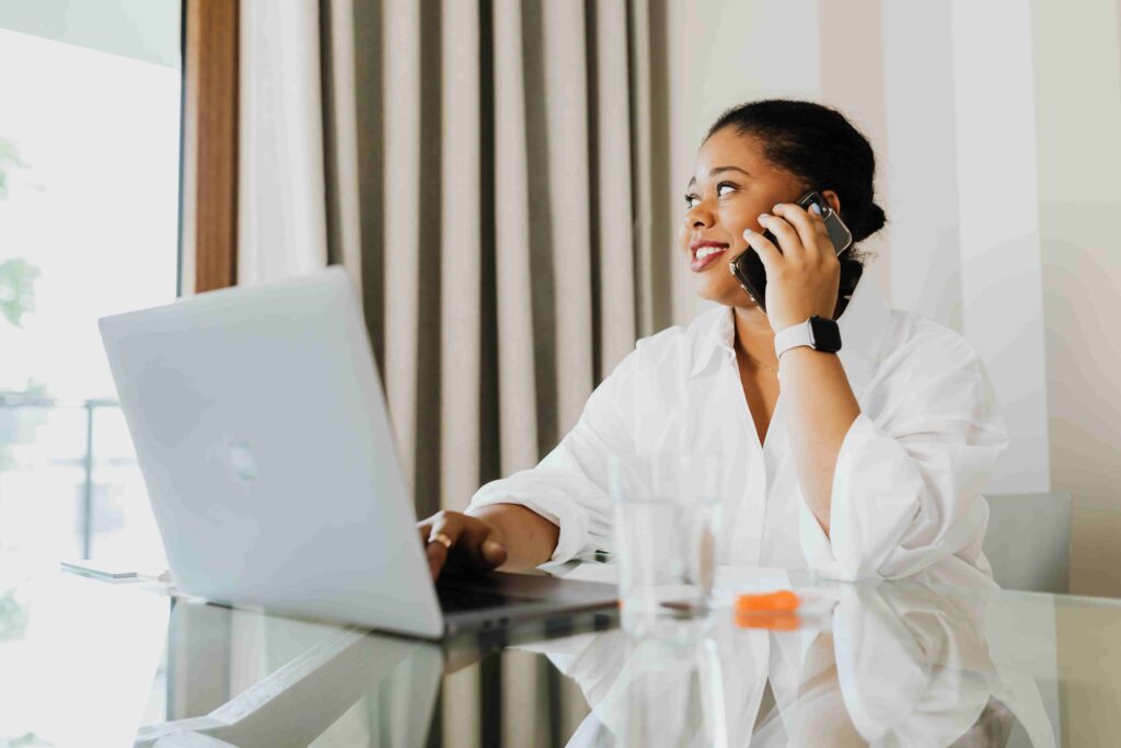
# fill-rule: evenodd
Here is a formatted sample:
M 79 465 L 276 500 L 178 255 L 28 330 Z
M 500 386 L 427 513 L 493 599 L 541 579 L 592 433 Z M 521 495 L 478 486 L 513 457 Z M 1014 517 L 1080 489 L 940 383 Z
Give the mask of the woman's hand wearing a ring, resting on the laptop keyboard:
M 435 580 L 445 570 L 489 572 L 506 563 L 506 539 L 492 524 L 461 511 L 437 511 L 417 523 Z

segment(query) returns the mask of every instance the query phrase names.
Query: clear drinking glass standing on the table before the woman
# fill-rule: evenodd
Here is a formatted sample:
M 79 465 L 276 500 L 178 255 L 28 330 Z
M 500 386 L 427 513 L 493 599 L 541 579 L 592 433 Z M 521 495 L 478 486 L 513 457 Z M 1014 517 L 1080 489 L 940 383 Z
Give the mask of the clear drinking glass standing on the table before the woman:
M 712 454 L 611 459 L 623 629 L 665 634 L 711 608 L 722 474 Z

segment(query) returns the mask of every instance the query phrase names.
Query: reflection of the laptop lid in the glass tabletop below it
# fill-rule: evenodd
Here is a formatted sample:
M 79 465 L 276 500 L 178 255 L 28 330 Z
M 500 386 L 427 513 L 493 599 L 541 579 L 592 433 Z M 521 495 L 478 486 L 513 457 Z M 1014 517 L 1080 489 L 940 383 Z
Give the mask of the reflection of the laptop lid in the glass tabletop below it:
M 429 643 L 185 600 L 168 659 L 170 719 L 138 747 L 423 746 L 444 667 Z

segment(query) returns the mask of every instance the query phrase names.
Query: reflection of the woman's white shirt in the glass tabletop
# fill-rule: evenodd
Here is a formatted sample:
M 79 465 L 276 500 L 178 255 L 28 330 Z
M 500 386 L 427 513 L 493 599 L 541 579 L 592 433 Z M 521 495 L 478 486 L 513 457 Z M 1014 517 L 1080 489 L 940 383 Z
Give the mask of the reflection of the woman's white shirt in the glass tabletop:
M 939 582 L 815 587 L 824 611 L 797 630 L 724 610 L 537 650 L 592 708 L 569 746 L 1054 746 L 1038 692 L 989 656 L 992 590 Z

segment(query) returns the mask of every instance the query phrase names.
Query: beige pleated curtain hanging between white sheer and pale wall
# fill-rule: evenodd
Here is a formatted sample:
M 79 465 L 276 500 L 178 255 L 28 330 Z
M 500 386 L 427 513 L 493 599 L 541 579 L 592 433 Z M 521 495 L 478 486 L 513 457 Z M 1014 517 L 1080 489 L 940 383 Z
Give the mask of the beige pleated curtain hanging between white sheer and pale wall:
M 327 256 L 361 279 L 418 515 L 461 509 L 535 464 L 636 336 L 668 322 L 671 227 L 652 210 L 664 12 L 648 0 L 319 12 Z

